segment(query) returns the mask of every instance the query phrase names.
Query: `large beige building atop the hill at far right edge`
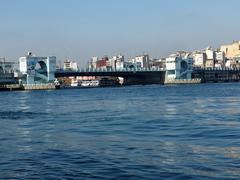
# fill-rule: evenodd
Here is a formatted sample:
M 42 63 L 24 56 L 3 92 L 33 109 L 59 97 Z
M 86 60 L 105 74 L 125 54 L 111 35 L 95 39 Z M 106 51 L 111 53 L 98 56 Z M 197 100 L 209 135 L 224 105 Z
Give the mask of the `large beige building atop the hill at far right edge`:
M 233 41 L 232 44 L 223 45 L 221 46 L 220 51 L 225 53 L 226 58 L 233 59 L 240 55 L 240 41 Z

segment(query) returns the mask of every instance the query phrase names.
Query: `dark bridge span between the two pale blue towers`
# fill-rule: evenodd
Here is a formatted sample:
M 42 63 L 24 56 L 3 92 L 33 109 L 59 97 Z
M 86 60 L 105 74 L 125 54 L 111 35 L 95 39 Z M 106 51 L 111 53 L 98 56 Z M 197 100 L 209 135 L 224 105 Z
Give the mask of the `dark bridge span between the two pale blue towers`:
M 80 69 L 78 71 L 57 70 L 55 77 L 71 76 L 110 76 L 122 77 L 125 84 L 163 84 L 165 70 L 161 68 L 123 68 L 123 69 Z

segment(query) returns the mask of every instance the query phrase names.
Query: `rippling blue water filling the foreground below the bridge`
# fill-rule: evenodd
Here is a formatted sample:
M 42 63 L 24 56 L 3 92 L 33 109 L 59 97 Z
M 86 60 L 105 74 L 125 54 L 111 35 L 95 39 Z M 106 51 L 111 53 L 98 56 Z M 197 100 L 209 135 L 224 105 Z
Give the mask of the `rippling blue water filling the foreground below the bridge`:
M 240 179 L 239 83 L 0 99 L 0 179 Z

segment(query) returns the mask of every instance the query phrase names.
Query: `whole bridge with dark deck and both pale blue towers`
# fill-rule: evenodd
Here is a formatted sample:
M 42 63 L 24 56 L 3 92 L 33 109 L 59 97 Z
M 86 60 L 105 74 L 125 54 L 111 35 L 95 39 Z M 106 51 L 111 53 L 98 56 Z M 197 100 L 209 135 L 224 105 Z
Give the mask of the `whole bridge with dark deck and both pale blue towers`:
M 28 53 L 19 58 L 21 80 L 24 84 L 52 84 L 55 78 L 98 76 L 98 77 L 122 77 L 124 84 L 163 84 L 166 78 L 177 79 L 202 79 L 208 81 L 240 80 L 240 68 L 192 68 L 191 63 L 181 59 L 170 63 L 171 68 L 98 68 L 80 69 L 78 71 L 56 70 L 56 57 L 36 57 Z M 180 63 L 180 64 L 177 64 Z M 167 66 L 166 66 L 167 67 Z M 170 72 L 171 71 L 171 72 Z M 1 69 L 0 69 L 1 72 Z M 166 75 L 167 74 L 167 75 Z M 172 75 L 175 76 L 172 76 Z M 178 74 L 178 76 L 177 76 Z

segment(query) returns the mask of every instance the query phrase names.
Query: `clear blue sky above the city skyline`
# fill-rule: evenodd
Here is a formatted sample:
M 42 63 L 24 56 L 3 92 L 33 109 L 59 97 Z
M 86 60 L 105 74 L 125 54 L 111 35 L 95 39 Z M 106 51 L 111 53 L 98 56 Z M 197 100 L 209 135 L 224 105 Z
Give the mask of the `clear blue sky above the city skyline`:
M 239 0 L 1 0 L 0 56 L 71 58 L 177 50 L 240 40 Z

